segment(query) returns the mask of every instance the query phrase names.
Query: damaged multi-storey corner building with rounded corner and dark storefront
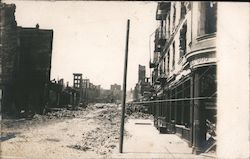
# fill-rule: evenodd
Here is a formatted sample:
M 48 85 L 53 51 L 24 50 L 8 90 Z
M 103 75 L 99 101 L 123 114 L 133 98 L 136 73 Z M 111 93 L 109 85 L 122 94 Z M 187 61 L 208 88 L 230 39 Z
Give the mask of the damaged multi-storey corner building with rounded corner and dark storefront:
M 155 125 L 205 151 L 216 138 L 217 3 L 159 2 L 156 20 L 152 97 L 165 102 L 151 104 Z

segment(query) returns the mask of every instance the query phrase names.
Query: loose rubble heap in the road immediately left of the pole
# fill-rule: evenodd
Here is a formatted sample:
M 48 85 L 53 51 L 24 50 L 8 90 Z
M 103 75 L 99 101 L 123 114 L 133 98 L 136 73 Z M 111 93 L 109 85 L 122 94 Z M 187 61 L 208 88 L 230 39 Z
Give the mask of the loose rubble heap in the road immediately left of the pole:
M 82 141 L 69 147 L 107 155 L 117 147 L 119 142 L 121 112 L 116 104 L 95 104 L 87 107 L 87 110 L 91 109 L 99 109 L 93 116 L 98 127 L 83 133 Z

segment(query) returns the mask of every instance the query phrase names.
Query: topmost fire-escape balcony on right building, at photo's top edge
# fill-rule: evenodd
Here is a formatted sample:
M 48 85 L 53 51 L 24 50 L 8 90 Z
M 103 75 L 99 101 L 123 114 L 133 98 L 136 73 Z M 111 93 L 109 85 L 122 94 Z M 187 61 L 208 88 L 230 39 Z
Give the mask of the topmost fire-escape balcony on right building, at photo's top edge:
M 170 2 L 159 2 L 156 10 L 156 20 L 166 19 L 167 14 L 170 11 Z

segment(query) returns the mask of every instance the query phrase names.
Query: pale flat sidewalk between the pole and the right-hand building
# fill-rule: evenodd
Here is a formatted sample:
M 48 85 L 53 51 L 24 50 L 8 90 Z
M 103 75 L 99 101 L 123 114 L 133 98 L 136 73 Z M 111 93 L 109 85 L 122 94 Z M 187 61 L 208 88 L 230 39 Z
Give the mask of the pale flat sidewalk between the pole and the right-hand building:
M 114 153 L 112 158 L 210 158 L 192 154 L 175 134 L 159 134 L 151 120 L 130 119 L 125 129 L 131 136 L 124 138 L 123 153 Z

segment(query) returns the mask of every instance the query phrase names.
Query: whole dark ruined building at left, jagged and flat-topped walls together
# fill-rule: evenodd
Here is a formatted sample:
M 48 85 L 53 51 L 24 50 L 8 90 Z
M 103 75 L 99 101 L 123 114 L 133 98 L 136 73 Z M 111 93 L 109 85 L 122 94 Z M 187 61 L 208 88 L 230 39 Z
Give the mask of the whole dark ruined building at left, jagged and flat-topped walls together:
M 15 5 L 1 7 L 1 107 L 42 113 L 48 100 L 53 30 L 18 27 Z

